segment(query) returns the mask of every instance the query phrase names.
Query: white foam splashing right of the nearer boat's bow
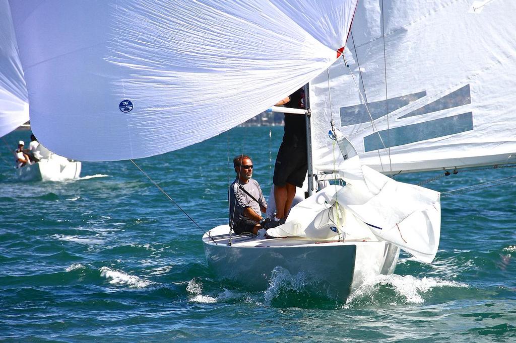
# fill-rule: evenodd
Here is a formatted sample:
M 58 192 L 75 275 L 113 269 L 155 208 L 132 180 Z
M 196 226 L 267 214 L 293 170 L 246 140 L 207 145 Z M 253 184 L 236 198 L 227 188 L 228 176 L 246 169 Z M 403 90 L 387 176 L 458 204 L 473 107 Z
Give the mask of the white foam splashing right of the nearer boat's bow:
M 349 297 L 347 303 L 353 300 L 363 298 L 378 291 L 380 285 L 391 285 L 396 293 L 404 297 L 409 303 L 420 304 L 425 300 L 423 294 L 436 287 L 469 287 L 468 285 L 455 281 L 447 281 L 439 278 L 422 278 L 418 279 L 411 275 L 400 276 L 396 274 L 379 275 L 373 280 L 369 280 L 362 284 Z

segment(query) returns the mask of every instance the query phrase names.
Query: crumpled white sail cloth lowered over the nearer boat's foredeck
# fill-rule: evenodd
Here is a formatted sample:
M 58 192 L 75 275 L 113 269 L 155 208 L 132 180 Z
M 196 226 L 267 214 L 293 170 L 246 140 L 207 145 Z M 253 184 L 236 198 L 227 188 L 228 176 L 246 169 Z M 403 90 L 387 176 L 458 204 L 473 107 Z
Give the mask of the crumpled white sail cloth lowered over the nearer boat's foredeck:
M 362 166 L 352 144 L 338 133 L 337 141 L 346 156 L 339 171 L 346 186 L 330 185 L 301 201 L 285 224 L 267 234 L 332 240 L 373 233 L 417 260 L 432 262 L 441 234 L 440 193 Z

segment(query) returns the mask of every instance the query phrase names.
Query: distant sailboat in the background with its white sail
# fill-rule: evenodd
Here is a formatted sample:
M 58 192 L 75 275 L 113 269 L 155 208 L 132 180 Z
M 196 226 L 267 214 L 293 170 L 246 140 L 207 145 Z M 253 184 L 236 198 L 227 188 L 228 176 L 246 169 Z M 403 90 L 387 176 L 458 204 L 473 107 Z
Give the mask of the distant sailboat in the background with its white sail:
M 0 137 L 3 137 L 29 120 L 27 88 L 7 0 L 0 1 L 0 32 Z M 58 156 L 41 144 L 38 152 L 42 154 L 39 162 L 16 168 L 15 177 L 21 181 L 79 177 L 80 162 Z

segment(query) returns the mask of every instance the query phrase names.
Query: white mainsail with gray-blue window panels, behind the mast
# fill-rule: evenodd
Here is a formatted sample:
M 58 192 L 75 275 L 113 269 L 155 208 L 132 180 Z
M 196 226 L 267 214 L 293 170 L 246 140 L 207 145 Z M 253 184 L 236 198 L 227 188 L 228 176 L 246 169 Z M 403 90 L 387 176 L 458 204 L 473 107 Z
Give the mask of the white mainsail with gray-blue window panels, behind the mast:
M 314 168 L 334 169 L 332 113 L 384 173 L 516 162 L 514 13 L 513 0 L 359 2 L 345 58 L 376 129 L 340 59 L 311 82 Z

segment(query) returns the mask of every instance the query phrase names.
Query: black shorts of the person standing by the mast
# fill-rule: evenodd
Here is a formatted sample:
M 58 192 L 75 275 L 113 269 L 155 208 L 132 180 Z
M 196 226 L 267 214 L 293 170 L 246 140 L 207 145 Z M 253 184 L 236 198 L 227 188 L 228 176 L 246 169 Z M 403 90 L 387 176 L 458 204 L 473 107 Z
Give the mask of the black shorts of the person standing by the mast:
M 281 142 L 274 165 L 272 183 L 280 187 L 286 183 L 302 187 L 307 170 L 307 146 Z

